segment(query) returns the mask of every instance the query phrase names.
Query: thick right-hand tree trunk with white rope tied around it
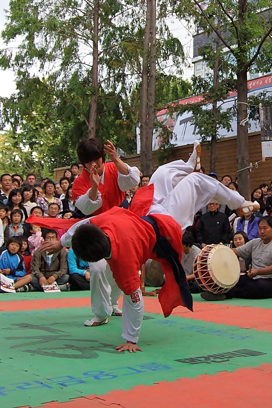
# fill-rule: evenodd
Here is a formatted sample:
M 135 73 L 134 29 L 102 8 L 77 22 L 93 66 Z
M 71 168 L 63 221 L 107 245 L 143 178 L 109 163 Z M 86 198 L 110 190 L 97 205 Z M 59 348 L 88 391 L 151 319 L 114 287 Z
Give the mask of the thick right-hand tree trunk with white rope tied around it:
M 237 69 L 237 168 L 238 170 L 249 167 L 249 139 L 248 122 L 241 125 L 241 120 L 248 116 L 248 78 L 246 71 Z M 246 199 L 250 199 L 250 170 L 238 171 L 239 193 Z

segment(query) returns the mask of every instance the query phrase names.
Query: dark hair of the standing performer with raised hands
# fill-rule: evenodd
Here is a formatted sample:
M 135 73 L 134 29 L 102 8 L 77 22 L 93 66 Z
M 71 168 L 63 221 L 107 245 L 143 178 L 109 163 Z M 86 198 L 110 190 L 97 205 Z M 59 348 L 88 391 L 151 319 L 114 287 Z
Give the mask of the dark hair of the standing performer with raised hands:
M 101 140 L 96 138 L 86 138 L 79 142 L 77 154 L 80 163 L 85 166 L 86 163 L 102 158 L 105 163 L 104 145 Z

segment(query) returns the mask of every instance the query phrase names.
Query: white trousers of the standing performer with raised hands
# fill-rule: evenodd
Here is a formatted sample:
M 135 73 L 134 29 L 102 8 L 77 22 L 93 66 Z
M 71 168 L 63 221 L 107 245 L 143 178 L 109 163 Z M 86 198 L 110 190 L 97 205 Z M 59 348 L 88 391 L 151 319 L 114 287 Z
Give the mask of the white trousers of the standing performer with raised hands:
M 121 290 L 113 279 L 112 271 L 105 259 L 90 262 L 89 267 L 92 313 L 103 320 L 118 308 Z

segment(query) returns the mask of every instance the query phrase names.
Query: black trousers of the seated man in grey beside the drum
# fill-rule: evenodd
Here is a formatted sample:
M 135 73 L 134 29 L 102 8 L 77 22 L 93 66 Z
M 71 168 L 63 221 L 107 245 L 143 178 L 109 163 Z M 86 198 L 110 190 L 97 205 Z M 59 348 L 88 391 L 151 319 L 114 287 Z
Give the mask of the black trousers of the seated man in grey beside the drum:
M 272 278 L 252 279 L 241 275 L 237 284 L 226 293 L 227 299 L 269 299 L 272 298 Z

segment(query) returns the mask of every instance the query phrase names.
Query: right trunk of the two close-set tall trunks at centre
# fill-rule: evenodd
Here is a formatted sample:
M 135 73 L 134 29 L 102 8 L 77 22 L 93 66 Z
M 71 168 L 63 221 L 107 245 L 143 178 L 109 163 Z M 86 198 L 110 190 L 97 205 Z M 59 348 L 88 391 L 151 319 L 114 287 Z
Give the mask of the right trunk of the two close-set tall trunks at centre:
M 156 90 L 156 0 L 151 0 L 150 22 L 150 75 L 149 97 L 147 101 L 147 128 L 145 135 L 145 174 L 152 174 L 152 139 L 155 119 Z

